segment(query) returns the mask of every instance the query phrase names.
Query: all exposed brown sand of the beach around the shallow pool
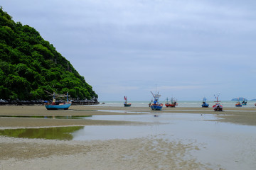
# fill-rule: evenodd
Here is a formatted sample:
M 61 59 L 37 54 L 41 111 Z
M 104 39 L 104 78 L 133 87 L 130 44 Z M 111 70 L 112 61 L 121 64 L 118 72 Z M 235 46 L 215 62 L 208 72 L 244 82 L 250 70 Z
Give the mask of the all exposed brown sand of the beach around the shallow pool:
M 119 111 L 119 112 L 117 112 Z M 75 116 L 150 114 L 149 108 L 71 106 L 68 111 L 46 111 L 44 106 L 1 106 L 0 128 L 44 128 L 85 125 L 139 125 L 117 120 L 17 118 L 13 116 Z M 156 112 L 154 112 L 156 113 Z M 220 122 L 256 125 L 256 108 L 164 108 L 161 113 L 214 114 Z M 198 143 L 184 144 L 161 137 L 129 140 L 42 140 L 0 137 L 0 169 L 222 169 L 221 165 L 202 164 L 191 156 L 201 149 Z

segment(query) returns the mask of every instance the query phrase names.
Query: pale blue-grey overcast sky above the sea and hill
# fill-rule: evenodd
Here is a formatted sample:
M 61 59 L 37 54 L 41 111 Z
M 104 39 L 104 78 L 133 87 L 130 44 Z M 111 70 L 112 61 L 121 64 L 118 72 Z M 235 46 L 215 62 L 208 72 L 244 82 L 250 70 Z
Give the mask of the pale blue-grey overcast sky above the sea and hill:
M 1 0 L 99 101 L 256 98 L 256 1 Z

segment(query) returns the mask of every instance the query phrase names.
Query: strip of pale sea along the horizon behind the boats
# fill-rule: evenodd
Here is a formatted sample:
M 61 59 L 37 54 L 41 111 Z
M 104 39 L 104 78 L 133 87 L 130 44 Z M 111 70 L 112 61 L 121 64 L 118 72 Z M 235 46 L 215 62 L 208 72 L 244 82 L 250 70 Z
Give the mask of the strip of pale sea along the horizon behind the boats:
M 149 107 L 149 103 L 151 101 L 128 101 L 128 103 L 132 103 L 132 107 Z M 104 104 L 102 104 L 104 103 Z M 165 101 L 160 101 L 160 103 L 165 103 Z M 198 108 L 201 107 L 203 101 L 178 101 L 178 106 L 181 108 Z M 214 101 L 207 101 L 209 107 L 215 105 Z M 223 108 L 236 108 L 236 101 L 220 101 L 220 104 Z M 242 108 L 255 108 L 256 101 L 247 101 L 246 106 L 242 106 Z M 98 106 L 112 106 L 112 107 L 122 107 L 124 106 L 124 101 L 100 101 Z

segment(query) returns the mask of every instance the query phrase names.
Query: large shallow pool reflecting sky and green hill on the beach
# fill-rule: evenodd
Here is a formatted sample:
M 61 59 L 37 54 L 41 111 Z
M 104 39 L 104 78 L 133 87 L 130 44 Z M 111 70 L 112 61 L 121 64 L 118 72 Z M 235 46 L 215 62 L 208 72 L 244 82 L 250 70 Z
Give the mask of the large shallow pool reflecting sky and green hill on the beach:
M 193 156 L 202 163 L 212 164 L 213 169 L 255 169 L 256 127 L 220 123 L 215 115 L 186 113 L 151 113 L 142 115 L 93 115 L 90 120 L 127 120 L 147 122 L 142 125 L 90 125 L 85 127 L 51 129 L 22 129 L 1 131 L 1 135 L 15 137 L 46 138 L 43 135 L 60 136 L 59 140 L 110 140 L 134 137 L 161 137 L 170 141 L 182 140 L 195 143 L 200 150 Z M 27 130 L 27 131 L 26 131 Z M 39 131 L 38 131 L 39 130 Z M 22 135 L 18 135 L 18 133 Z M 41 135 L 37 135 L 40 133 Z M 67 138 L 65 138 L 65 135 Z

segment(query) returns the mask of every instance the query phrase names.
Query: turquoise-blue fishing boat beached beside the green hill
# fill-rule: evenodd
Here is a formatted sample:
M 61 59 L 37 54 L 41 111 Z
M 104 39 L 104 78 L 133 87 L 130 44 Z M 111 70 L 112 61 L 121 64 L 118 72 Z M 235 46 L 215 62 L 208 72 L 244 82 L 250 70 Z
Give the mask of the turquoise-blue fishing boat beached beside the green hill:
M 56 102 L 55 99 L 56 94 L 53 92 L 53 101 L 48 102 L 45 104 L 47 110 L 68 110 L 68 108 L 71 106 L 71 101 L 68 101 L 68 93 L 66 94 L 67 96 L 67 101 L 65 102 Z M 59 97 L 63 97 L 65 95 L 58 95 Z

